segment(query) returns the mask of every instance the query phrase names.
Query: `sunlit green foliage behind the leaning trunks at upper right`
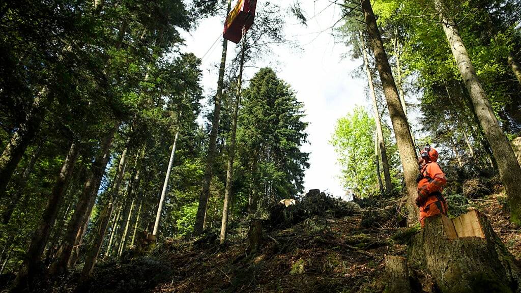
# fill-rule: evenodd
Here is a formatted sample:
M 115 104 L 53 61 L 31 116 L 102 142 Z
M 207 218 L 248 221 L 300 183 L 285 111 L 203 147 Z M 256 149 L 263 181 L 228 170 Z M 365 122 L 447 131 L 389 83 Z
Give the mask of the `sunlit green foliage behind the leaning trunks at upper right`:
M 444 3 L 457 23 L 505 134 L 518 136 L 521 88 L 511 64 L 519 64 L 515 52 L 521 48 L 518 1 L 508 0 L 501 5 L 494 1 Z M 407 102 L 418 104 L 419 128 L 441 150 L 440 163 L 448 177 L 466 179 L 493 174 L 490 147 L 433 3 L 378 0 L 371 4 L 395 81 L 404 89 Z M 344 10 L 352 5 L 345 2 Z M 366 31 L 362 18 L 359 11 L 352 11 L 339 30 L 345 42 L 352 45 L 353 58 L 361 57 L 359 32 Z M 357 73 L 365 74 L 362 70 Z M 378 82 L 377 78 L 377 90 Z M 419 103 L 414 95 L 419 97 Z

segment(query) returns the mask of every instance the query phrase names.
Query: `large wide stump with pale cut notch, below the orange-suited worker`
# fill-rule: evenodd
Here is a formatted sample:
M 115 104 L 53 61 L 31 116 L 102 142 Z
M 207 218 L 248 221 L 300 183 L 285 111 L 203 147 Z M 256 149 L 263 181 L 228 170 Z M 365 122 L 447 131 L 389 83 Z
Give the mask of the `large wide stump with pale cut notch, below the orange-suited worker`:
M 426 218 L 408 255 L 442 293 L 521 292 L 521 265 L 477 211 Z

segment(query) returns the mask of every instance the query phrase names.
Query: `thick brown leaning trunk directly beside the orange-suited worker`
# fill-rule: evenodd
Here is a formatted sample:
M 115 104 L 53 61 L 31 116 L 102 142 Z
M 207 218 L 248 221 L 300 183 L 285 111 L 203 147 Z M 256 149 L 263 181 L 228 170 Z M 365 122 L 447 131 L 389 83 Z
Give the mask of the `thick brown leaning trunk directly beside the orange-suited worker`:
M 389 108 L 389 115 L 391 116 L 396 143 L 398 144 L 398 150 L 400 152 L 405 187 L 407 189 L 407 207 L 409 210 L 408 223 L 414 224 L 418 222 L 419 213 L 418 207 L 415 203 L 416 197 L 418 196 L 416 190 L 416 175 L 418 174 L 416 151 L 414 150 L 413 139 L 407 123 L 407 117 L 403 111 L 398 90 L 394 83 L 389 59 L 384 50 L 373 8 L 369 1 L 370 0 L 361 0 L 362 9 L 364 11 L 364 18 L 371 39 L 373 53 L 375 54 L 375 61 L 380 74 L 380 80 L 382 81 L 383 93 L 386 96 L 387 107 Z

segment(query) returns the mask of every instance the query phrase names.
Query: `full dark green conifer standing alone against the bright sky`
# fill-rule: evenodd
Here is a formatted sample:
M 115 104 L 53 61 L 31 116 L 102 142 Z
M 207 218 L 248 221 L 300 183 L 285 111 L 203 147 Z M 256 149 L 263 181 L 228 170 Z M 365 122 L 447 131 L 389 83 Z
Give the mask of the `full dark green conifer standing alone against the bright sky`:
M 259 202 L 294 198 L 304 189 L 308 154 L 303 104 L 270 68 L 263 68 L 244 89 L 237 130 L 238 161 Z M 250 186 L 244 186 L 249 188 Z M 248 194 L 247 189 L 243 191 Z

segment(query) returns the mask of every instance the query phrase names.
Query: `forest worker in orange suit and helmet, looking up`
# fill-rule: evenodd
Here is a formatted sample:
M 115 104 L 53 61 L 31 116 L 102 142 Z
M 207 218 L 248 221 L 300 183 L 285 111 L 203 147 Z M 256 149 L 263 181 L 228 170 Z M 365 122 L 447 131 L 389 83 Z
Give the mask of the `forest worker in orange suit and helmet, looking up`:
M 438 151 L 427 144 L 420 153 L 418 160 L 420 174 L 416 179 L 418 182 L 416 205 L 420 208 L 421 227 L 425 225 L 425 218 L 438 214 L 447 215 L 448 211 L 447 202 L 441 194 L 447 179 L 436 161 L 438 161 Z

